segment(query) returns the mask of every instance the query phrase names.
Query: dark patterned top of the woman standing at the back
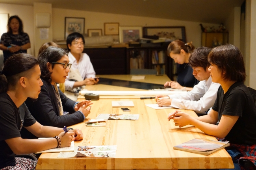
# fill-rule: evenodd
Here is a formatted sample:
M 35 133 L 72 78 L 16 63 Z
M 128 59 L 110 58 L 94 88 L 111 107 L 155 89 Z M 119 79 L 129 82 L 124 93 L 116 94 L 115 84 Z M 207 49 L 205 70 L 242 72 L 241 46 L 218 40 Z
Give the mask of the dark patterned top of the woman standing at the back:
M 9 47 L 11 44 L 17 46 L 23 46 L 24 44 L 30 43 L 30 39 L 27 33 L 20 33 L 20 34 L 12 34 L 12 33 L 4 33 L 1 36 L 0 44 L 4 44 L 4 46 Z M 15 53 L 11 53 L 10 51 L 4 50 L 4 60 L 7 60 L 11 55 L 16 53 L 27 53 L 26 49 L 19 50 Z

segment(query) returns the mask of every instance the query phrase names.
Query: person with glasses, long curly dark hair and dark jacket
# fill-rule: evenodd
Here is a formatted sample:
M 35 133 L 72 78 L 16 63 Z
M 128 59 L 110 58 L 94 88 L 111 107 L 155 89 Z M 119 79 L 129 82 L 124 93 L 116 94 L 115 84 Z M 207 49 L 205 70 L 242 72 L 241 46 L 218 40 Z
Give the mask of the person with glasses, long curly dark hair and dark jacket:
M 33 117 L 43 125 L 55 127 L 82 122 L 90 113 L 91 101 L 72 101 L 56 85 L 65 82 L 71 67 L 67 53 L 61 48 L 48 47 L 38 56 L 38 60 L 44 84 L 37 100 L 28 98 L 25 101 Z M 22 129 L 22 137 L 35 138 L 26 129 Z

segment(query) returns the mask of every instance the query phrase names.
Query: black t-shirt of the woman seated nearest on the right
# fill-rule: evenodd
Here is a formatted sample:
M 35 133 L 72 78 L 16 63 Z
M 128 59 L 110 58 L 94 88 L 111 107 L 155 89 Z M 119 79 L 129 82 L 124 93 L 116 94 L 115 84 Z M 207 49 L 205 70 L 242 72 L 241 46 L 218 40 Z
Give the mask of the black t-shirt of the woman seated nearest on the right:
M 241 82 L 236 82 L 223 94 L 220 86 L 217 99 L 212 107 L 222 115 L 239 116 L 225 139 L 234 144 L 256 144 L 256 108 L 249 89 Z

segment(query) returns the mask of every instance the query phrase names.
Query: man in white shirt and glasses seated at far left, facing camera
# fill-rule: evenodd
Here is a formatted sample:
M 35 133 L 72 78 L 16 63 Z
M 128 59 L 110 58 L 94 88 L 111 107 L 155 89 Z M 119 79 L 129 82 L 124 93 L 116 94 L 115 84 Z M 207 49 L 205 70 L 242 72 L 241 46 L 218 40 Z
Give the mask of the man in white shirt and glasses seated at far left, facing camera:
M 96 73 L 89 56 L 83 53 L 84 43 L 83 35 L 80 33 L 71 33 L 67 37 L 69 63 L 72 64 L 72 69 L 65 81 L 65 90 L 72 90 L 83 85 L 93 85 L 99 81 L 95 78 Z M 71 79 L 77 81 L 70 81 Z

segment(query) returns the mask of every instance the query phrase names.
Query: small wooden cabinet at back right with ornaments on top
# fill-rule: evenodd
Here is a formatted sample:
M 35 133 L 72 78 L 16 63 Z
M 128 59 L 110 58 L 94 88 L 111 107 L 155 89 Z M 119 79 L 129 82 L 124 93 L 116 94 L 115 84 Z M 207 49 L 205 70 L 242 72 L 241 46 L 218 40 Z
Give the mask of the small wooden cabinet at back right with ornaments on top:
M 228 43 L 228 32 L 223 33 L 202 33 L 202 46 L 217 47 Z

